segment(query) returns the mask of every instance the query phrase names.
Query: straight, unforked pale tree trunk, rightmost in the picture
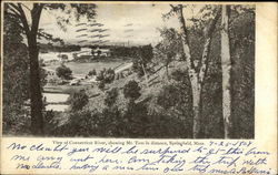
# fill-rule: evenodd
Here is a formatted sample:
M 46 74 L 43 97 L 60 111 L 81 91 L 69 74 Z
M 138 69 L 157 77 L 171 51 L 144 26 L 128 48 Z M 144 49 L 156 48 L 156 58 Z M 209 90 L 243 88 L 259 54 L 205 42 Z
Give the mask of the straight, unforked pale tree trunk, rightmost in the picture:
M 222 6 L 221 21 L 221 68 L 222 68 L 222 115 L 225 138 L 231 134 L 231 92 L 230 92 L 230 43 L 229 43 L 229 7 Z

